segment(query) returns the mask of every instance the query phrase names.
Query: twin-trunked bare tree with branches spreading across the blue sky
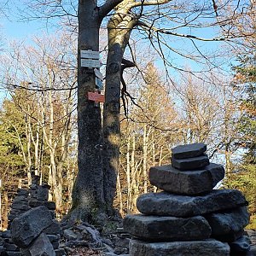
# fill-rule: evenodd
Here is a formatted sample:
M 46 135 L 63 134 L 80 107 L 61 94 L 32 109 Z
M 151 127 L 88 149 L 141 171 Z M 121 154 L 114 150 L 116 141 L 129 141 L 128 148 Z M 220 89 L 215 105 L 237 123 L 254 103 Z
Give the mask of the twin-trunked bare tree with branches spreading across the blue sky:
M 183 71 L 177 67 L 175 56 L 184 61 L 203 61 L 207 67 L 211 58 L 200 42 L 231 41 L 240 36 L 229 33 L 237 14 L 247 10 L 249 1 L 172 1 L 172 0 L 37 0 L 32 4 L 34 17 L 41 11 L 41 17 L 78 16 L 78 129 L 79 129 L 79 173 L 73 189 L 72 217 L 87 220 L 104 220 L 113 215 L 113 197 L 119 166 L 119 109 L 122 73 L 125 67 L 132 67 L 135 58 L 125 61 L 124 54 L 129 39 L 148 40 L 148 44 L 160 55 L 164 67 Z M 78 8 L 78 9 L 77 9 Z M 230 11 L 227 15 L 227 10 Z M 70 13 L 73 10 L 73 14 Z M 42 15 L 43 13 L 43 15 Z M 88 100 L 88 92 L 94 91 L 95 74 L 88 67 L 81 67 L 80 51 L 99 50 L 100 27 L 108 23 L 108 60 L 106 66 L 105 104 L 103 127 L 101 109 Z M 207 27 L 218 26 L 226 32 L 203 38 Z M 215 31 L 214 31 L 215 32 Z M 243 35 L 245 36 L 245 35 Z M 173 42 L 178 40 L 177 47 Z M 185 42 L 185 43 L 184 43 Z M 131 49 L 131 47 L 129 47 Z M 171 56 L 172 55 L 172 56 Z M 216 57 L 216 55 L 214 55 Z M 125 91 L 125 84 L 123 90 Z

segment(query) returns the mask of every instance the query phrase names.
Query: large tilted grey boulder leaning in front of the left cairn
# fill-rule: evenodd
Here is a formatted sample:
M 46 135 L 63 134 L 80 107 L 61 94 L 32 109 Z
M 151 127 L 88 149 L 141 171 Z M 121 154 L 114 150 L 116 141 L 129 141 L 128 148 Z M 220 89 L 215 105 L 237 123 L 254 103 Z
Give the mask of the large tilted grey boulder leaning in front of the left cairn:
M 52 224 L 46 207 L 37 207 L 15 218 L 11 224 L 11 236 L 19 247 L 27 247 L 45 228 Z

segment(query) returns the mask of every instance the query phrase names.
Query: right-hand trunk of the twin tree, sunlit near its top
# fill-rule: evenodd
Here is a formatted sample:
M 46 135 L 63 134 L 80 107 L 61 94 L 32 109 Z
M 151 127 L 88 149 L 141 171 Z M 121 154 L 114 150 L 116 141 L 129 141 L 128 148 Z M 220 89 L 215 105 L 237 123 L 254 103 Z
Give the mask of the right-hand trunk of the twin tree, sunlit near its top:
M 115 215 L 113 199 L 119 166 L 120 147 L 120 81 L 125 47 L 136 20 L 124 15 L 125 9 L 113 15 L 108 23 L 108 60 L 106 68 L 105 104 L 103 112 L 103 173 L 104 198 L 108 215 Z M 124 29 L 125 27 L 125 29 Z

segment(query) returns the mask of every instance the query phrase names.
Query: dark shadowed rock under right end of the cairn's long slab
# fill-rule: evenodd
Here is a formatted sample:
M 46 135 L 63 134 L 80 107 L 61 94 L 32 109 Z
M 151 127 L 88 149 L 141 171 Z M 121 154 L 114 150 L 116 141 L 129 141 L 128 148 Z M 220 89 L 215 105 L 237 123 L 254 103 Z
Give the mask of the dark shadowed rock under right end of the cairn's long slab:
M 230 235 L 240 232 L 249 223 L 247 207 L 206 216 L 212 228 L 212 237 L 219 241 L 230 241 Z

